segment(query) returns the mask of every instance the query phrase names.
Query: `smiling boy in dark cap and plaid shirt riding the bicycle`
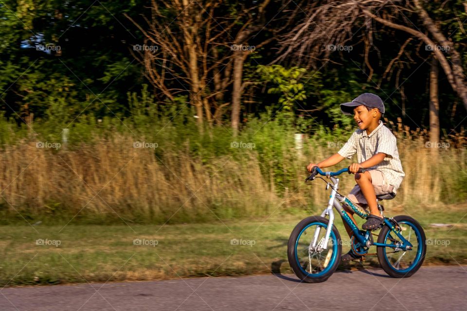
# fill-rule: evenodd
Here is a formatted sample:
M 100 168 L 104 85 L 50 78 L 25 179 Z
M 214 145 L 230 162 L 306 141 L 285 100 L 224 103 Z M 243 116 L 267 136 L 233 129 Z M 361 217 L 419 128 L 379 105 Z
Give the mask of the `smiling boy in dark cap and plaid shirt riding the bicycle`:
M 387 193 L 396 193 L 405 173 L 397 152 L 395 136 L 383 125 L 380 120 L 384 114 L 384 104 L 379 96 L 372 93 L 363 93 L 350 103 L 341 104 L 341 111 L 345 115 L 353 115 L 358 129 L 352 134 L 345 145 L 335 155 L 318 164 L 310 163 L 307 170 L 312 168 L 326 168 L 336 165 L 344 158 L 351 158 L 357 154 L 358 163 L 350 165 L 350 172 L 355 174 L 357 185 L 347 196 L 351 201 L 360 205 L 368 205 L 370 215 L 361 227 L 364 230 L 374 230 L 381 225 L 383 218 L 378 212 L 376 196 Z M 367 169 L 365 173 L 357 173 L 360 168 Z M 344 206 L 352 221 L 353 211 Z M 350 237 L 352 230 L 345 224 Z M 342 261 L 359 259 L 352 250 L 341 257 Z

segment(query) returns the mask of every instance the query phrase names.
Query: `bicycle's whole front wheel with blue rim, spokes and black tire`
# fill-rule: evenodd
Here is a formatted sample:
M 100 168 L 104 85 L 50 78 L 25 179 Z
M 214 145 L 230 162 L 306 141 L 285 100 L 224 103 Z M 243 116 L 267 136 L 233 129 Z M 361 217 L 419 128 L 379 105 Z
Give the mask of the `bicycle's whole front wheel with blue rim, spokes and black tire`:
M 328 220 L 311 216 L 295 226 L 287 244 L 287 257 L 296 276 L 307 283 L 323 282 L 336 271 L 341 260 L 341 236 L 333 226 L 326 245 Z M 315 242 L 315 243 L 313 243 Z

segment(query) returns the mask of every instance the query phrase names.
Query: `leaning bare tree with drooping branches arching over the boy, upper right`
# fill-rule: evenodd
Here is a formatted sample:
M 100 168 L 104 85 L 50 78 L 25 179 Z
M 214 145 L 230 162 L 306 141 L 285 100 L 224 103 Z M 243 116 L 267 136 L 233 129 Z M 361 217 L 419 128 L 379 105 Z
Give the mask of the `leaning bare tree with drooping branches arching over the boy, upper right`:
M 427 10 L 434 10 L 433 5 L 439 4 L 420 0 L 344 2 L 325 0 L 307 4 L 305 6 L 307 18 L 297 23 L 290 33 L 282 36 L 281 55 L 277 61 L 294 55 L 299 64 L 300 62 L 313 63 L 319 56 L 329 55 L 330 51 L 326 49 L 329 45 L 345 45 L 346 42 L 352 40 L 355 35 L 354 31 L 364 30 L 364 41 L 368 47 L 364 57 L 368 64 L 368 50 L 373 42 L 372 34 L 375 28 L 373 21 L 375 21 L 422 41 L 426 45 L 426 50 L 430 51 L 440 63 L 450 86 L 467 109 L 467 85 L 459 52 L 465 48 L 466 42 L 454 42 L 451 36 L 456 30 L 451 28 L 451 24 L 444 25 L 443 29 L 440 21 L 430 16 Z M 451 7 L 443 8 L 445 5 Z M 441 8 L 436 9 L 447 11 L 452 17 L 452 12 L 459 12 L 462 5 L 461 1 L 445 1 L 441 4 Z M 409 14 L 411 18 L 403 12 Z M 466 16 L 465 13 L 462 15 Z M 451 35 L 445 35 L 443 30 L 449 31 Z M 309 52 L 305 53 L 307 51 Z M 370 78 L 371 75 L 370 67 Z

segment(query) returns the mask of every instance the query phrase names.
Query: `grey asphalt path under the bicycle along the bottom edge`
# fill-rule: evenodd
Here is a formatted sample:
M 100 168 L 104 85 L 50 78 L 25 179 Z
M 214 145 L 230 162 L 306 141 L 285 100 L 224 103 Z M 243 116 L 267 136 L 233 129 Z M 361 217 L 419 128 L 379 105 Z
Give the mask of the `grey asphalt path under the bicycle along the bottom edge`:
M 293 275 L 57 285 L 0 290 L 1 311 L 467 310 L 467 266 L 423 267 L 406 279 L 339 271 L 326 282 Z

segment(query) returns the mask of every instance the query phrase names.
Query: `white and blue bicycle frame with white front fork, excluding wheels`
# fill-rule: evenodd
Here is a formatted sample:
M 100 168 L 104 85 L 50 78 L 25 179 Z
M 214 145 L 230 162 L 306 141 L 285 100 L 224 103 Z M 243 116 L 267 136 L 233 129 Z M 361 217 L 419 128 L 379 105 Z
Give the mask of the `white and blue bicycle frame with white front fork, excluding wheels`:
M 339 172 L 337 172 L 335 174 L 339 174 L 341 171 L 339 171 Z M 407 241 L 398 232 L 398 230 L 395 227 L 395 224 L 390 222 L 390 218 L 388 219 L 388 218 L 384 217 L 384 224 L 389 226 L 389 228 L 391 228 L 391 231 L 394 232 L 395 235 L 397 235 L 397 237 L 399 237 L 401 239 L 401 241 L 403 242 L 402 245 L 384 244 L 384 243 L 373 242 L 373 240 L 371 239 L 371 231 L 370 230 L 367 230 L 363 234 L 362 231 L 359 230 L 359 228 L 354 224 L 352 219 L 350 219 L 350 216 L 343 209 L 340 202 L 345 201 L 356 212 L 356 214 L 359 215 L 362 218 L 366 218 L 367 214 L 362 215 L 363 209 L 361 209 L 361 207 L 358 207 L 356 204 L 354 204 L 352 201 L 350 201 L 347 197 L 342 196 L 342 195 L 337 193 L 337 191 L 339 190 L 339 178 L 333 177 L 330 174 L 330 172 L 326 172 L 325 175 L 328 178 L 330 178 L 331 181 L 332 181 L 332 184 L 329 183 L 329 182 L 327 183 L 326 190 L 329 187 L 331 187 L 332 190 L 331 190 L 331 195 L 329 196 L 329 201 L 327 203 L 327 207 L 323 210 L 323 213 L 321 213 L 322 217 L 329 216 L 329 223 L 328 223 L 328 226 L 327 226 L 327 229 L 326 229 L 326 235 L 325 235 L 324 241 L 320 241 L 320 243 L 319 243 L 320 244 L 319 246 L 322 249 L 327 248 L 327 243 L 328 243 L 329 237 L 331 235 L 332 226 L 334 225 L 333 207 L 336 208 L 338 213 L 341 215 L 342 220 L 347 225 L 349 225 L 349 227 L 352 229 L 352 232 L 354 233 L 354 236 L 356 237 L 358 242 L 360 242 L 362 245 L 365 245 L 366 247 L 370 247 L 371 245 L 385 246 L 385 247 L 399 248 L 400 250 L 412 249 L 413 245 L 409 241 Z M 355 209 L 353 207 L 355 207 Z M 382 212 L 381 212 L 381 216 L 382 216 Z M 317 228 L 315 229 L 315 234 L 313 236 L 313 241 L 312 241 L 312 243 L 310 245 L 314 249 L 316 249 L 316 247 L 318 246 L 317 243 L 318 243 L 318 237 L 319 237 L 320 233 L 321 233 L 321 226 L 317 226 Z

